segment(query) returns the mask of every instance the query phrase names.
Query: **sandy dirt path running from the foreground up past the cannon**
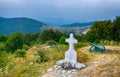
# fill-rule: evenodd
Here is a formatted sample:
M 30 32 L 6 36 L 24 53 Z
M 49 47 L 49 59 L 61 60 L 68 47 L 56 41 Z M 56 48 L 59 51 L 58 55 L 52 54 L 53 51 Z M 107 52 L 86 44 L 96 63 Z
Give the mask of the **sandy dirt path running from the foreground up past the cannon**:
M 118 58 L 118 55 L 116 54 L 102 54 L 102 53 L 90 53 L 88 52 L 90 47 L 83 47 L 80 48 L 80 51 L 84 52 L 85 54 L 88 54 L 91 59 L 86 63 L 87 67 L 78 70 L 78 73 L 75 75 L 71 75 L 69 77 L 113 77 L 111 75 L 109 75 L 109 69 L 107 71 L 104 72 L 104 70 L 106 69 L 106 67 L 103 67 L 105 65 L 109 65 L 112 62 L 119 62 L 120 57 Z M 112 46 L 107 46 L 107 49 L 111 50 L 111 49 L 117 49 L 117 51 L 120 51 L 120 47 L 112 47 Z M 94 56 L 93 56 L 94 55 Z M 114 64 L 113 66 L 116 66 L 116 64 Z M 118 66 L 120 66 L 118 64 Z M 117 67 L 118 69 L 120 69 L 120 67 Z M 110 67 L 110 70 L 112 70 L 112 67 Z M 101 73 L 102 72 L 102 73 Z M 111 72 L 112 73 L 112 72 Z M 120 72 L 117 70 L 118 75 L 120 76 Z M 115 77 L 119 77 L 119 76 L 115 76 Z M 49 74 L 46 73 L 45 75 L 41 76 L 41 77 L 60 77 L 60 76 L 55 76 L 55 74 Z M 61 76 L 61 77 L 68 77 L 68 76 Z

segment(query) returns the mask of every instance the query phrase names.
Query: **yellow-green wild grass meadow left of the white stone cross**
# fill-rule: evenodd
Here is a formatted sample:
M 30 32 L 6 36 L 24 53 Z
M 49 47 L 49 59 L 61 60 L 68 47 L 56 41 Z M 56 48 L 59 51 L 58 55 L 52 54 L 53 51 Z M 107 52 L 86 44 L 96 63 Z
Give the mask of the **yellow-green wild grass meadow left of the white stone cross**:
M 0 68 L 0 77 L 37 77 L 46 72 L 46 69 L 53 66 L 59 59 L 64 58 L 67 50 L 65 45 L 59 48 L 46 48 L 47 45 L 36 45 L 26 52 L 25 57 L 16 57 L 16 53 L 3 53 L 5 61 L 4 68 Z M 39 52 L 48 57 L 45 62 L 36 62 Z M 41 53 L 42 54 L 42 53 Z M 1 58 L 1 57 L 0 57 Z

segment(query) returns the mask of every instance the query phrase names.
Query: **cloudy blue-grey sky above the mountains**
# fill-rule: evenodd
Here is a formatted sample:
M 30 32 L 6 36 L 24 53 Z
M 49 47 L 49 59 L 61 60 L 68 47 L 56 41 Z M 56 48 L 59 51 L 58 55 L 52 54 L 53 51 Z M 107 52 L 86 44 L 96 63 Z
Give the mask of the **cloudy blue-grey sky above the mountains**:
M 120 15 L 120 0 L 0 0 L 1 17 L 44 22 L 89 22 Z

